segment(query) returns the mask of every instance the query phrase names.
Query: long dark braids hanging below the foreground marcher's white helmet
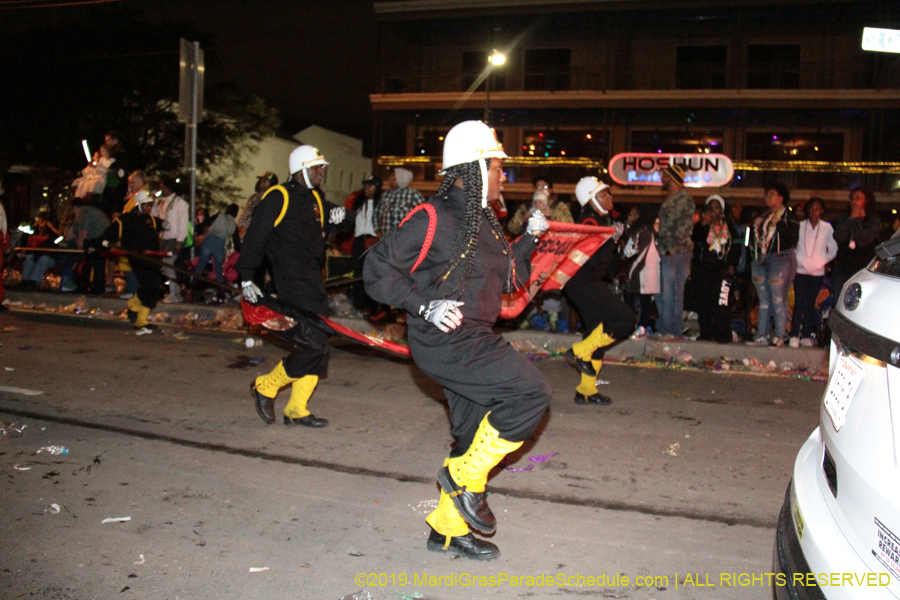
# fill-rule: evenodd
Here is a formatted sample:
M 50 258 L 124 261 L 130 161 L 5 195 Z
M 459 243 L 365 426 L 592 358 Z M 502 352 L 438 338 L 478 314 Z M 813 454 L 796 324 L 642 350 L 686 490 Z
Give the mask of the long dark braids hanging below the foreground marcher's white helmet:
M 482 159 L 484 160 L 484 159 Z M 455 246 L 453 249 L 453 260 L 450 262 L 447 272 L 441 277 L 446 280 L 450 274 L 463 264 L 462 277 L 459 278 L 456 287 L 451 294 L 457 291 L 461 292 L 469 283 L 472 276 L 472 269 L 475 266 L 475 255 L 478 250 L 478 234 L 481 230 L 481 215 L 484 214 L 491 225 L 494 236 L 503 244 L 503 253 L 506 254 L 508 260 L 508 268 L 506 272 L 507 289 L 512 289 L 516 281 L 516 264 L 513 259 L 512 249 L 506 236 L 503 235 L 503 227 L 497 220 L 490 206 L 482 208 L 481 206 L 481 168 L 478 161 L 456 165 L 447 169 L 444 180 L 436 193 L 437 196 L 446 196 L 456 183 L 456 180 L 462 178 L 463 191 L 466 198 L 466 212 L 463 220 L 463 227 L 456 233 Z

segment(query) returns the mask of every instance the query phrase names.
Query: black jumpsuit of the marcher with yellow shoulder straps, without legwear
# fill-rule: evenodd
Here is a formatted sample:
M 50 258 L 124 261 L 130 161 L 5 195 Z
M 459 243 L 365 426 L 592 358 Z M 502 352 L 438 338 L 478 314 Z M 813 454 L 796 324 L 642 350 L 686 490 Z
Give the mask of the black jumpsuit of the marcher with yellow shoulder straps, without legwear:
M 268 257 L 280 302 L 327 315 L 328 297 L 321 274 L 325 266 L 324 236 L 345 228 L 352 219 L 345 218 L 339 225 L 330 224 L 328 215 L 336 206 L 325 200 L 323 192 L 317 189 L 316 193 L 321 205 L 313 192 L 293 180 L 266 190 L 253 209 L 236 268 L 241 281 L 252 281 L 263 258 Z M 285 200 L 287 210 L 282 215 Z M 276 225 L 279 217 L 281 220 Z M 286 336 L 298 334 L 298 341 L 307 343 L 300 343 L 284 359 L 285 373 L 292 378 L 324 375 L 328 370 L 328 334 L 309 326 L 303 327 L 302 333 L 285 332 Z

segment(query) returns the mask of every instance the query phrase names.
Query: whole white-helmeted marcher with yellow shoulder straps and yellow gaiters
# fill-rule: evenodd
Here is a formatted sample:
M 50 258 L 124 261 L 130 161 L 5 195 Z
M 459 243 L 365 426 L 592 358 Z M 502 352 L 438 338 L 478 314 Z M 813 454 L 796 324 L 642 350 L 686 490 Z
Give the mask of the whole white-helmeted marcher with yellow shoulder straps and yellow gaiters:
M 320 275 L 325 262 L 324 236 L 346 228 L 352 220 L 346 218 L 343 207 L 326 201 L 318 189 L 328 163 L 316 148 L 299 146 L 291 152 L 288 162 L 290 180 L 284 186 L 266 190 L 244 234 L 237 262 L 241 289 L 250 304 L 263 299 L 253 276 L 264 257 L 268 257 L 279 302 L 327 315 L 328 298 Z M 275 396 L 291 384 L 284 424 L 325 427 L 328 421 L 311 414 L 306 404 L 319 376 L 328 368 L 328 335 L 321 329 L 306 327 L 299 341 L 305 343 L 299 344 L 271 373 L 257 377 L 251 384 L 256 411 L 263 421 L 274 423 Z

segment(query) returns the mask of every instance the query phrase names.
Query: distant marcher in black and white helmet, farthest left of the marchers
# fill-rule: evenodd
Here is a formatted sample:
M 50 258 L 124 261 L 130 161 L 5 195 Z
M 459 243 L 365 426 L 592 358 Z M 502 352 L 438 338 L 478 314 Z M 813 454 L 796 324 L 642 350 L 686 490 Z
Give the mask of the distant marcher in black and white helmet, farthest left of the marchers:
M 150 214 L 153 198 L 145 190 L 140 190 L 134 195 L 134 203 L 135 207 L 130 212 L 120 215 L 100 237 L 88 241 L 86 245 L 91 248 L 108 248 L 110 244 L 119 242 L 122 249 L 131 252 L 159 250 L 158 236 L 162 221 Z M 128 299 L 128 320 L 134 324 L 135 329 L 147 333 L 156 329 L 156 325 L 147 321 L 147 317 L 159 301 L 162 274 L 158 265 L 144 262 L 136 256 L 129 256 L 128 261 L 139 285 L 137 293 Z M 97 276 L 96 273 L 94 276 Z

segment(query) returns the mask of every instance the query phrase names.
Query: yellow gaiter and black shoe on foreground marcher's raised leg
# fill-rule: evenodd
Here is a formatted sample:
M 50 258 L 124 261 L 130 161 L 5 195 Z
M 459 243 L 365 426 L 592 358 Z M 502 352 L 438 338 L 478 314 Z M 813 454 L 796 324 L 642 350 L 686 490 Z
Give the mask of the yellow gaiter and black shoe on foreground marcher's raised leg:
M 487 505 L 487 476 L 503 457 L 516 450 L 522 442 L 510 442 L 500 437 L 488 422 L 490 413 L 484 416 L 472 444 L 466 453 L 449 458 L 446 466 L 438 471 L 438 483 L 453 499 L 457 510 L 466 522 L 484 533 L 493 533 L 497 519 Z

